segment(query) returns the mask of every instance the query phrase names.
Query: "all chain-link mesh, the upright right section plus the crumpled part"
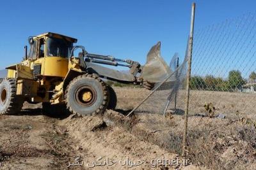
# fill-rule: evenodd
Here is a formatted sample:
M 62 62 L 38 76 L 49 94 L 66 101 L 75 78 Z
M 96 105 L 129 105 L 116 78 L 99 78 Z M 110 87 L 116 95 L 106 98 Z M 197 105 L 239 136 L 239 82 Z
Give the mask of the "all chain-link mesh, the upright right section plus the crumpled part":
M 256 13 L 195 29 L 187 141 L 193 164 L 212 169 L 256 167 L 255 53 Z M 175 81 L 161 85 L 137 113 L 184 114 L 186 56 L 178 67 L 177 53 L 172 57 Z M 180 124 L 176 126 L 182 128 Z M 174 130 L 166 135 L 167 148 L 180 153 L 181 130 Z

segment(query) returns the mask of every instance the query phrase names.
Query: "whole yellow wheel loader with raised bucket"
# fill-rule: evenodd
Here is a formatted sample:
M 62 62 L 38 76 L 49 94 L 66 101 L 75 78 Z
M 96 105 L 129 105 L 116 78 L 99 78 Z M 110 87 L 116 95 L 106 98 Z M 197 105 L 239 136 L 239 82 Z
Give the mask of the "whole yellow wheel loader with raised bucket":
M 160 43 L 148 53 L 147 63 L 88 53 L 74 46 L 76 38 L 47 32 L 30 36 L 30 49 L 19 64 L 6 67 L 0 84 L 0 114 L 15 114 L 24 101 L 42 103 L 45 112 L 70 111 L 78 115 L 104 113 L 115 109 L 115 91 L 105 80 L 132 83 L 152 89 L 170 69 L 160 55 Z M 77 57 L 74 52 L 80 49 Z M 129 72 L 103 65 L 129 67 Z

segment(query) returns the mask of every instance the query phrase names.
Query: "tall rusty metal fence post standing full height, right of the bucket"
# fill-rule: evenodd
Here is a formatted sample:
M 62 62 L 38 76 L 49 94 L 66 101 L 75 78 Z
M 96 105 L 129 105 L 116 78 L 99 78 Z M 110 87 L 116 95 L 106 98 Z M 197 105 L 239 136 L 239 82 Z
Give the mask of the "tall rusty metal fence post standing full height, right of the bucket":
M 192 4 L 191 11 L 191 25 L 189 32 L 189 48 L 188 48 L 188 72 L 187 72 L 187 81 L 186 81 L 186 108 L 184 115 L 184 132 L 183 132 L 183 141 L 182 141 L 182 156 L 186 157 L 186 141 L 188 134 L 188 108 L 189 108 L 189 83 L 191 77 L 191 60 L 192 60 L 192 50 L 193 50 L 193 33 L 194 33 L 194 21 L 195 21 L 195 6 L 196 4 Z

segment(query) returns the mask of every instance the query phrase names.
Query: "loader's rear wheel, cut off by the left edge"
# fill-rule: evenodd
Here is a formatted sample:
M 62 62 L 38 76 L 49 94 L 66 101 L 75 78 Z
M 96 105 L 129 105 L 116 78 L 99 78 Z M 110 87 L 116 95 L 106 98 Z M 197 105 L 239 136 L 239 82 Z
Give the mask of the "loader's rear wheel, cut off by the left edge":
M 13 115 L 22 109 L 24 97 L 16 92 L 16 80 L 4 78 L 0 84 L 0 115 Z

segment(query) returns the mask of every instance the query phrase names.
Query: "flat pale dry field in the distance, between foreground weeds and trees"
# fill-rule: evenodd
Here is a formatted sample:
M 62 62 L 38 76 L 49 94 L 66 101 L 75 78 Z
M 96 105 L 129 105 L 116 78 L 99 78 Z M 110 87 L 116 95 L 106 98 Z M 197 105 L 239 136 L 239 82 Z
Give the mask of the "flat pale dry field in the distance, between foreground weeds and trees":
M 118 95 L 117 107 L 124 110 L 134 108 L 134 106 L 140 103 L 140 101 L 150 93 L 150 91 L 146 89 L 127 87 L 116 87 L 115 91 Z M 168 94 L 168 90 L 157 91 L 140 107 L 140 111 L 161 113 Z M 185 90 L 180 90 L 177 96 L 177 108 L 180 110 L 184 110 L 185 108 L 185 94 Z M 255 93 L 191 90 L 189 98 L 189 115 L 199 113 L 206 114 L 207 111 L 205 111 L 204 108 L 205 103 L 212 103 L 216 109 L 215 115 L 222 113 L 227 117 L 232 118 L 246 117 L 256 119 L 256 110 L 254 107 L 255 101 Z M 173 108 L 173 101 L 170 106 Z

